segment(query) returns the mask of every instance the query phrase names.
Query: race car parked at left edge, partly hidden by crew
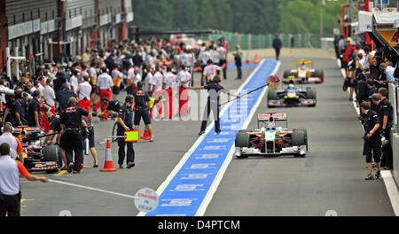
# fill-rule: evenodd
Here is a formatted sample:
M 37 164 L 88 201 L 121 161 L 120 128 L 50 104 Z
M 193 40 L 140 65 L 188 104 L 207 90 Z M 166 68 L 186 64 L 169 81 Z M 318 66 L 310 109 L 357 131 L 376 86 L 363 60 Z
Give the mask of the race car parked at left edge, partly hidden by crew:
M 24 149 L 24 166 L 28 171 L 59 171 L 62 166 L 59 145 L 42 147 L 46 135 L 41 128 L 20 126 L 13 129 L 12 135 L 20 139 Z

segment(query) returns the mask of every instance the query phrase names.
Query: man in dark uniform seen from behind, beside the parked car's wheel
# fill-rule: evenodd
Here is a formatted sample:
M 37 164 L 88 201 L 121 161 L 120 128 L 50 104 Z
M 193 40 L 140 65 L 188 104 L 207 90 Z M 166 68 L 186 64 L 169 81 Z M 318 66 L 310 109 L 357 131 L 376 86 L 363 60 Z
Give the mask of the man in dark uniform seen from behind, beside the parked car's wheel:
M 60 114 L 61 134 L 69 173 L 80 173 L 83 167 L 82 116 L 88 116 L 91 125 L 91 113 L 76 106 L 76 98 L 69 98 L 68 107 Z M 74 152 L 74 153 L 73 153 Z M 74 161 L 73 161 L 74 156 Z

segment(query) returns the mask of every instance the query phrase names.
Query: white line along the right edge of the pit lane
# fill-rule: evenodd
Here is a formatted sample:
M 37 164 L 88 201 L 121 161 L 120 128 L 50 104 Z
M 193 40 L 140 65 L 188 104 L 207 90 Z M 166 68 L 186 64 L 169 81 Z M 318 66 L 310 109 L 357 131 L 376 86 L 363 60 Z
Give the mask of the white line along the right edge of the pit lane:
M 337 59 L 337 64 L 338 64 L 338 67 L 340 67 L 340 59 Z M 343 68 L 340 68 L 340 72 L 345 79 L 345 77 L 347 76 L 347 74 L 345 74 L 345 70 Z M 348 93 L 350 95 L 349 89 L 348 89 Z M 356 107 L 356 103 L 352 102 L 352 104 L 355 107 L 356 113 L 360 114 L 359 108 Z M 381 177 L 384 180 L 385 187 L 387 189 L 387 194 L 388 194 L 389 199 L 391 200 L 391 205 L 394 210 L 394 213 L 396 216 L 399 216 L 399 192 L 398 192 L 395 180 L 392 176 L 392 173 L 390 170 L 382 170 Z

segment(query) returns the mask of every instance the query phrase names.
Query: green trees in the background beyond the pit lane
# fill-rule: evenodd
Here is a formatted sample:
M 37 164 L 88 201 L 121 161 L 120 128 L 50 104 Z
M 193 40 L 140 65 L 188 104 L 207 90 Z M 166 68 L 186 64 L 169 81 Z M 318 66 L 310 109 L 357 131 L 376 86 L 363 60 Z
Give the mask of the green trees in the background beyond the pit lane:
M 327 1 L 325 34 L 338 27 L 346 0 Z M 221 29 L 240 33 L 320 32 L 322 0 L 132 0 L 135 25 L 147 28 Z

